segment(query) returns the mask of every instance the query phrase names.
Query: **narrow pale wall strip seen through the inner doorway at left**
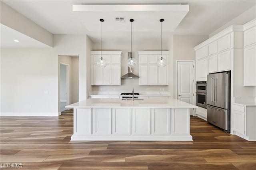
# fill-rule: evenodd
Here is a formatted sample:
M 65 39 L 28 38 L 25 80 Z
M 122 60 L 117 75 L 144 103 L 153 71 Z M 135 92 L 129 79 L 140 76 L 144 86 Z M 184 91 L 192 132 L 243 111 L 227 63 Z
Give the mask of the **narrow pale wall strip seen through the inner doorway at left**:
M 67 67 L 66 65 L 60 65 L 60 101 L 67 101 Z

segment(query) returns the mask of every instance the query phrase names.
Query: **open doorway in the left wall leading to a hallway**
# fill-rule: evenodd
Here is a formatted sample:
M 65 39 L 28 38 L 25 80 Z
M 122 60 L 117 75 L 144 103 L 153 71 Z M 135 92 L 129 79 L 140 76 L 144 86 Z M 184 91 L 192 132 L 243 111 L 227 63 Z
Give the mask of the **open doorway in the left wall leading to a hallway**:
M 78 102 L 78 55 L 58 56 L 58 111 L 69 109 L 67 105 Z

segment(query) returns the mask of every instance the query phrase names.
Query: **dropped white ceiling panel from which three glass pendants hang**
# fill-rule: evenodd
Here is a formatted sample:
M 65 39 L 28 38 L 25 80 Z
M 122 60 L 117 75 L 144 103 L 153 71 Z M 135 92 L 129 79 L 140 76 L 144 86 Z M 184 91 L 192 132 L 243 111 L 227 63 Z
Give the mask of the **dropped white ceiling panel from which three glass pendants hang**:
M 104 19 L 104 32 L 159 32 L 159 19 L 164 18 L 163 31 L 173 32 L 189 11 L 189 5 L 73 5 L 73 12 L 88 31 L 100 31 L 99 18 Z M 116 22 L 116 17 L 126 22 Z M 90 23 L 90 24 L 88 24 Z

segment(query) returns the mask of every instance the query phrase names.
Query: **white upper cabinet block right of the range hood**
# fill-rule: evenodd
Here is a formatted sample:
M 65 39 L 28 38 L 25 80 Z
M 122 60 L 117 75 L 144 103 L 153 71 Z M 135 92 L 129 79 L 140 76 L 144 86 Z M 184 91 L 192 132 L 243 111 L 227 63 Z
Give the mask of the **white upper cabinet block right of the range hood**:
M 169 51 L 163 51 L 166 67 L 158 67 L 157 59 L 161 51 L 138 51 L 139 53 L 139 85 L 168 85 L 169 84 Z

